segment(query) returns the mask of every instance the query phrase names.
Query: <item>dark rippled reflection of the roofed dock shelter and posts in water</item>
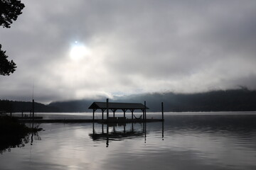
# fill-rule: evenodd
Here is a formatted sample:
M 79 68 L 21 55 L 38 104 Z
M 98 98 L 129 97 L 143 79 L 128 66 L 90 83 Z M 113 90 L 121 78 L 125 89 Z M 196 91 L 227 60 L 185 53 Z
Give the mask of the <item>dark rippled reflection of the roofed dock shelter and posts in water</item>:
M 92 123 L 92 133 L 89 136 L 95 141 L 106 141 L 106 147 L 109 147 L 111 141 L 134 139 L 137 137 L 144 137 L 144 143 L 146 143 L 147 123 L 107 123 L 101 124 L 101 130 L 95 130 L 95 124 L 99 125 Z M 161 137 L 164 140 L 164 122 L 161 124 Z

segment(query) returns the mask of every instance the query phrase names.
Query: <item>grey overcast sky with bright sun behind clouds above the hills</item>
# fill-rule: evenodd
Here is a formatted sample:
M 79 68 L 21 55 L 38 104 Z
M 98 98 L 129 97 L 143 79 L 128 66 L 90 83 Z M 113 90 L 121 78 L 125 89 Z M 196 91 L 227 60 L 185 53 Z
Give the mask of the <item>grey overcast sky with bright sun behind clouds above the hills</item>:
M 22 0 L 0 28 L 17 69 L 0 97 L 49 103 L 256 89 L 256 1 Z

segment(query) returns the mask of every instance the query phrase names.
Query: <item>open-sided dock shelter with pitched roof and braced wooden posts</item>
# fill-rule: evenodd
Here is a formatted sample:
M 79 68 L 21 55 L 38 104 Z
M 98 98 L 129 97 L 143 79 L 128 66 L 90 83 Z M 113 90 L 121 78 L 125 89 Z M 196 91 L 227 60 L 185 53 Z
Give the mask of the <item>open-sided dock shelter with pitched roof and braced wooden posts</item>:
M 142 111 L 143 116 L 141 116 L 141 118 L 143 120 L 146 120 L 146 109 L 149 109 L 149 108 L 146 107 L 146 102 L 144 102 L 144 104 L 142 104 L 142 103 L 113 103 L 113 102 L 108 102 L 108 99 L 107 99 L 107 102 L 93 102 L 92 105 L 89 107 L 89 109 L 92 109 L 92 119 L 93 120 L 95 120 L 95 111 L 97 111 L 97 109 L 100 109 L 102 111 L 102 120 L 104 120 L 105 111 L 107 111 L 107 120 L 117 120 L 117 118 L 114 115 L 114 113 L 117 110 L 121 110 L 124 112 L 124 116 L 119 117 L 118 118 L 119 120 L 126 119 L 125 113 L 127 111 L 131 111 L 132 119 L 133 119 L 135 110 Z M 112 111 L 113 116 L 110 116 L 109 110 Z

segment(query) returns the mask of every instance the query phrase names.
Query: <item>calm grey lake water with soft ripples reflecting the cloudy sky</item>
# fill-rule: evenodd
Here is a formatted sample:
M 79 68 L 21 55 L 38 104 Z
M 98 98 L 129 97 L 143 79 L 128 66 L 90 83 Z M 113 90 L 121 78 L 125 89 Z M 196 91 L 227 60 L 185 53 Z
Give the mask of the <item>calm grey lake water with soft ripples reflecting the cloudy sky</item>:
M 42 115 L 83 118 L 84 114 Z M 151 113 L 148 118 L 159 116 Z M 44 131 L 29 136 L 23 147 L 0 154 L 1 170 L 256 169 L 256 113 L 166 113 L 164 125 L 39 127 Z

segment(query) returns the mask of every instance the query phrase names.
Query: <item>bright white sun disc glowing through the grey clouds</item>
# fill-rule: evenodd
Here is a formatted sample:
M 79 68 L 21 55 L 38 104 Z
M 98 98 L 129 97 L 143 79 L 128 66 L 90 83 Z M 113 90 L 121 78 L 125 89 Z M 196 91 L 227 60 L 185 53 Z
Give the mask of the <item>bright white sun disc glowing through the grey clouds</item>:
M 90 50 L 85 45 L 74 45 L 70 50 L 70 58 L 75 61 L 82 60 L 88 55 L 90 55 Z

